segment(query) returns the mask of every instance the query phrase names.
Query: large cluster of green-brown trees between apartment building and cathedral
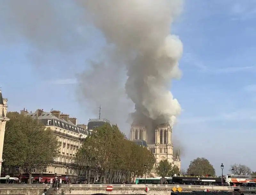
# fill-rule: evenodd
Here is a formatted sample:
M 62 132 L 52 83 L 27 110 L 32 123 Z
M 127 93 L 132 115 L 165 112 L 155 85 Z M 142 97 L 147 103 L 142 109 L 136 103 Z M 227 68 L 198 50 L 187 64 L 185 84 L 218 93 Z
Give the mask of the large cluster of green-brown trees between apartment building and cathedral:
M 106 172 L 110 180 L 115 171 L 141 176 L 153 168 L 155 158 L 147 148 L 128 141 L 117 125 L 105 124 L 86 137 L 75 161 L 82 168 L 96 169 L 100 177 Z

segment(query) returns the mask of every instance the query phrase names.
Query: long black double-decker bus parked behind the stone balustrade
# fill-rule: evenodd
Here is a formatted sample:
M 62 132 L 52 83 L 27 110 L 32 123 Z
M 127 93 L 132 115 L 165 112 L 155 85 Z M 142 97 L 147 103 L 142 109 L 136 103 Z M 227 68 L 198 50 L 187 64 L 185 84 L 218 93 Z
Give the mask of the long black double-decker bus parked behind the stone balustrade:
M 172 177 L 172 182 L 183 185 L 221 185 L 221 177 L 181 175 Z

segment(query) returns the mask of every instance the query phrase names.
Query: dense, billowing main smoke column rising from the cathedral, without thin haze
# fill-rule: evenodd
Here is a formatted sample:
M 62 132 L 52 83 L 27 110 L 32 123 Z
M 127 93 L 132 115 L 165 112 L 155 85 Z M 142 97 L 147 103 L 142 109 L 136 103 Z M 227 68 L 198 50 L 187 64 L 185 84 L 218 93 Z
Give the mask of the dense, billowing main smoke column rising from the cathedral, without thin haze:
M 107 42 L 113 44 L 111 58 L 124 64 L 128 79 L 125 91 L 135 104 L 135 123 L 153 127 L 171 124 L 180 113 L 170 81 L 180 77 L 182 55 L 179 38 L 170 35 L 173 18 L 182 8 L 180 0 L 79 1 L 91 14 Z M 110 59 L 111 62 L 114 60 Z M 154 130 L 148 137 L 154 141 Z

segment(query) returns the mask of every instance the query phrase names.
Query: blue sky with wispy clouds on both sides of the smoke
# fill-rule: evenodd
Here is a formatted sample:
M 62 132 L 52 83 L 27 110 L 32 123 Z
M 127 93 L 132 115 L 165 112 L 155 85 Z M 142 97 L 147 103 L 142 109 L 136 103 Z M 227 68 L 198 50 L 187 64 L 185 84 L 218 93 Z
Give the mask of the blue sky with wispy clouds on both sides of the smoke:
M 183 75 L 171 87 L 182 107 L 173 139 L 181 145 L 184 169 L 204 157 L 219 175 L 221 163 L 224 174 L 234 163 L 256 171 L 255 22 L 255 0 L 187 0 L 171 27 L 184 49 Z M 3 41 L 0 33 L 0 85 L 9 111 L 53 108 L 79 123 L 98 117 L 81 103 L 76 76 L 103 43 L 89 27 L 76 30 L 84 35 L 87 48 L 69 55 L 45 53 L 40 62 L 31 60 L 33 46 L 27 40 Z M 129 134 L 129 128 L 123 131 Z

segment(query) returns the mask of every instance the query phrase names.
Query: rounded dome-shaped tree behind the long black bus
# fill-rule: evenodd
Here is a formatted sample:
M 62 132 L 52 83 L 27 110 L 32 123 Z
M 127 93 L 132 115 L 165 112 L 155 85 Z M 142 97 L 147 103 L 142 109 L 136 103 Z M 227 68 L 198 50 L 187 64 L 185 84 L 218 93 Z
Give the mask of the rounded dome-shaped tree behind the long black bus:
M 212 164 L 210 164 L 209 160 L 205 158 L 196 158 L 190 161 L 187 174 L 215 176 L 215 169 Z

